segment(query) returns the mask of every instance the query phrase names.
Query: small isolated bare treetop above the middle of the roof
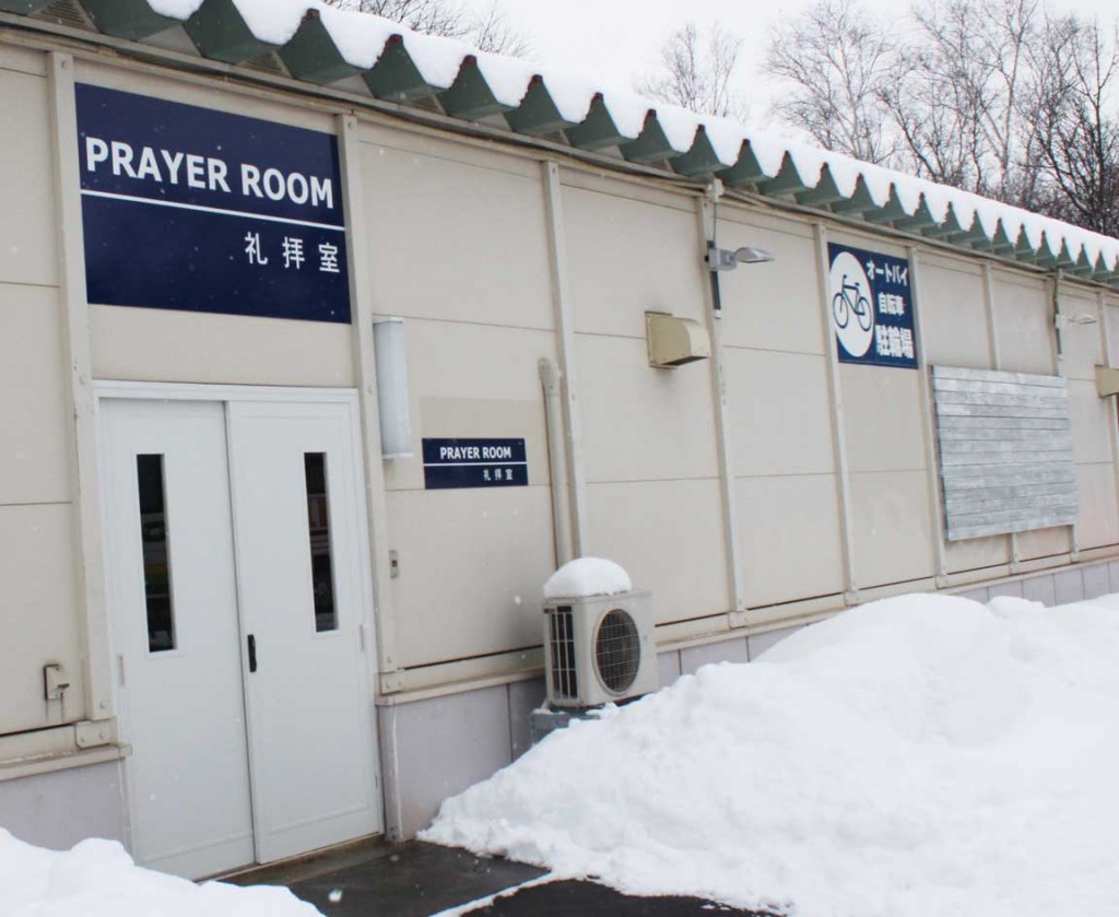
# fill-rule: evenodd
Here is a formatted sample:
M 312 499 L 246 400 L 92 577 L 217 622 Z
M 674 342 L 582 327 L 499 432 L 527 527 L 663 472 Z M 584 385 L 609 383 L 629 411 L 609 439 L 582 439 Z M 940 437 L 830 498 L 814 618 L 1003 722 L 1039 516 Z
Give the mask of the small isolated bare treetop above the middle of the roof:
M 660 50 L 662 73 L 640 79 L 642 95 L 699 114 L 745 120 L 749 105 L 734 90 L 742 39 L 715 25 L 700 36 L 695 22 L 677 29 Z

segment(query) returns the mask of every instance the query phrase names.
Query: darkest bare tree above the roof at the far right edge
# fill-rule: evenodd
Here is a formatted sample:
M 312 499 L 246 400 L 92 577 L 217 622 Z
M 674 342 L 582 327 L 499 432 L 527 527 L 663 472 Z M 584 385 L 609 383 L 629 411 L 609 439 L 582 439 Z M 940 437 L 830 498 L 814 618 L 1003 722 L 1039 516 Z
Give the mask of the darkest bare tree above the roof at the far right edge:
M 1044 203 L 1056 216 L 1119 235 L 1119 35 L 1074 16 L 1046 22 L 1034 52 L 1034 147 Z

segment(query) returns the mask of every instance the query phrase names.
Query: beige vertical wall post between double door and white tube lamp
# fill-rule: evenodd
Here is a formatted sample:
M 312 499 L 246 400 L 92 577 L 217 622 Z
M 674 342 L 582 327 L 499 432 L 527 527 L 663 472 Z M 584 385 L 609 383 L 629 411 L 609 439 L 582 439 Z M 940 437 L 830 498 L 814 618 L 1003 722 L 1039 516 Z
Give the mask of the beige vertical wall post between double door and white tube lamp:
M 346 259 L 349 264 L 354 364 L 358 373 L 365 502 L 373 568 L 373 619 L 377 633 L 379 687 L 382 693 L 386 693 L 399 691 L 402 679 L 396 663 L 396 634 L 389 589 L 388 504 L 385 497 L 385 468 L 380 457 L 380 406 L 377 397 L 377 363 L 373 341 L 373 290 L 369 272 L 366 270 L 367 259 L 360 247 L 363 242 L 369 238 L 365 226 L 365 195 L 361 187 L 361 139 L 354 115 L 338 115 L 337 127 L 342 195 L 346 200 Z

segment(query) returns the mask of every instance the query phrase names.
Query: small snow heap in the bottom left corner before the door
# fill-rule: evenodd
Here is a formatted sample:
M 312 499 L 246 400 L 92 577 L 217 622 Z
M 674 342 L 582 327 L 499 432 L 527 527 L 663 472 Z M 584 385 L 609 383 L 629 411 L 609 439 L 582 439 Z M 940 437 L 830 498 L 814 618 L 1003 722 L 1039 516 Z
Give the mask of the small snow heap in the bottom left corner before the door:
M 285 888 L 196 886 L 134 865 L 115 841 L 55 852 L 0 829 L 0 917 L 314 917 Z

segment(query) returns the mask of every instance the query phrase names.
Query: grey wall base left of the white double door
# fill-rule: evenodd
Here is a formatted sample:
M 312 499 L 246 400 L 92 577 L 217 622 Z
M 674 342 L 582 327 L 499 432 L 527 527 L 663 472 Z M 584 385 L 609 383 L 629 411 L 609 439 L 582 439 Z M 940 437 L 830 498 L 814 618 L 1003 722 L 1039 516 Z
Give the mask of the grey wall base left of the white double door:
M 122 785 L 120 761 L 0 782 L 0 827 L 51 850 L 86 838 L 123 842 Z

